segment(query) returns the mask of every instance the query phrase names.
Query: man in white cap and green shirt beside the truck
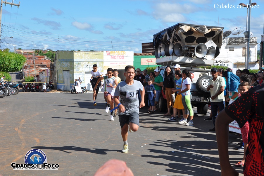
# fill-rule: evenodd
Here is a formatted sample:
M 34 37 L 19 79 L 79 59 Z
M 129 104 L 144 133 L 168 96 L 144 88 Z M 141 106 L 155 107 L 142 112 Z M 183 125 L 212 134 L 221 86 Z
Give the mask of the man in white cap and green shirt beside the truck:
M 155 98 L 155 106 L 154 106 L 154 111 L 157 110 L 157 104 L 158 104 L 158 99 L 161 96 L 161 90 L 163 86 L 163 77 L 160 75 L 160 72 L 158 68 L 154 70 L 155 73 L 155 81 L 152 83 L 156 89 L 156 98 Z

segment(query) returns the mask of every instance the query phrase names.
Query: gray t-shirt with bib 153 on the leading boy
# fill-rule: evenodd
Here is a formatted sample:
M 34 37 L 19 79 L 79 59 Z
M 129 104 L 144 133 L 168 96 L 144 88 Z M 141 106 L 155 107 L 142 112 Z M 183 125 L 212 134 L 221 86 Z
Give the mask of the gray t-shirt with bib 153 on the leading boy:
M 125 80 L 117 85 L 114 96 L 120 97 L 120 103 L 125 106 L 125 112 L 119 112 L 120 115 L 139 113 L 138 94 L 140 94 L 139 90 L 143 91 L 143 89 L 143 85 L 137 80 L 134 80 L 132 85 L 128 85 Z

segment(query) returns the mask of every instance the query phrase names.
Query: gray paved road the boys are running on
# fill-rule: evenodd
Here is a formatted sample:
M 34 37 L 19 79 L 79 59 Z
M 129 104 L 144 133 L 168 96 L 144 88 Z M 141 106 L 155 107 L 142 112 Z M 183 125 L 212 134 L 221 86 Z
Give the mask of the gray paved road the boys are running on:
M 110 159 L 124 160 L 134 175 L 220 175 L 215 133 L 207 115 L 194 116 L 195 126 L 168 121 L 161 113 L 140 109 L 140 127 L 123 146 L 118 118 L 110 121 L 103 94 L 93 106 L 92 94 L 26 93 L 1 99 L 0 175 L 93 175 Z M 209 110 L 210 111 L 210 110 Z M 230 160 L 240 138 L 230 134 Z M 13 170 L 32 149 L 42 150 L 58 170 Z M 242 173 L 242 168 L 239 168 Z

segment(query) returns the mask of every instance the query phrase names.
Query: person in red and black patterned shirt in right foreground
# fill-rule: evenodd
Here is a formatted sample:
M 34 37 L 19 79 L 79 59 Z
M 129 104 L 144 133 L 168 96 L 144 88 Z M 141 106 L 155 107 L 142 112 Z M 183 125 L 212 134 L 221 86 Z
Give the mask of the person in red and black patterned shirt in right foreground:
M 228 158 L 228 124 L 236 120 L 239 126 L 249 121 L 249 146 L 246 151 L 244 176 L 264 175 L 264 85 L 249 89 L 216 118 L 216 138 L 222 175 L 238 175 Z

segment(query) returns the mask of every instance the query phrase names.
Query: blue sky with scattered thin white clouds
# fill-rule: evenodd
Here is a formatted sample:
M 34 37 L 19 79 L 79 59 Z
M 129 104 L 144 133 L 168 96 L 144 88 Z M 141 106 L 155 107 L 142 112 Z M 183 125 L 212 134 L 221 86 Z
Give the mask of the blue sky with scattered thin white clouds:
M 18 2 L 14 0 L 15 4 Z M 260 42 L 264 0 L 252 2 L 258 6 L 251 9 L 250 31 Z M 141 43 L 152 42 L 153 34 L 177 23 L 222 26 L 224 31 L 244 28 L 246 31 L 247 9 L 238 8 L 239 3 L 249 4 L 249 0 L 21 0 L 19 9 L 3 4 L 1 49 L 141 53 Z M 243 32 L 239 37 L 244 36 Z

